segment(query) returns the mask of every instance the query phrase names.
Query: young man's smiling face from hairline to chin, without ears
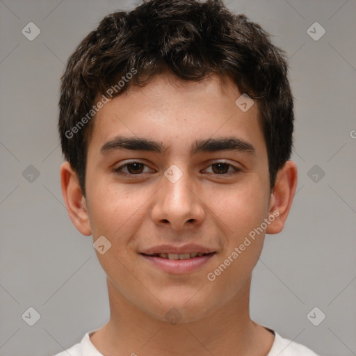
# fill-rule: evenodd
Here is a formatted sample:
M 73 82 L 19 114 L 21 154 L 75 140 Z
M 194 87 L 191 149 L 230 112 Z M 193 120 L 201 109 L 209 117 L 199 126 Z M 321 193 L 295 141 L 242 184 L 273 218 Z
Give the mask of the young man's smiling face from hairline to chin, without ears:
M 111 243 L 97 257 L 112 298 L 160 320 L 172 307 L 182 321 L 201 319 L 238 299 L 264 242 L 270 187 L 257 104 L 241 111 L 241 92 L 220 80 L 161 74 L 93 122 L 86 207 L 94 241 Z

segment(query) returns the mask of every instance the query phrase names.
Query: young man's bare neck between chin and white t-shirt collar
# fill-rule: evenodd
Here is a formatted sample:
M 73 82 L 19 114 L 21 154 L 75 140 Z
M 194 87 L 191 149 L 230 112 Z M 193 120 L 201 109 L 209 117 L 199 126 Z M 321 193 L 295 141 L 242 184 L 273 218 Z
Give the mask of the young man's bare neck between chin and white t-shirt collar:
M 250 319 L 250 282 L 206 318 L 172 325 L 138 309 L 108 280 L 110 320 L 90 340 L 104 356 L 266 356 L 274 337 Z

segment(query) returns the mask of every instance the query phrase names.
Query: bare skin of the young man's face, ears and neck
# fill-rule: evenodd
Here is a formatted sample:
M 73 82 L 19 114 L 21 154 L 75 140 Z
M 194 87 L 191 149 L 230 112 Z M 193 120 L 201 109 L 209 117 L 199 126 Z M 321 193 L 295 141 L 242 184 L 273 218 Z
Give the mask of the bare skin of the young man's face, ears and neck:
M 284 227 L 297 169 L 287 161 L 270 190 L 258 107 L 255 102 L 244 113 L 235 104 L 240 95 L 227 78 L 193 83 L 159 74 L 97 113 L 88 145 L 86 197 L 70 164 L 63 163 L 62 191 L 72 223 L 94 241 L 105 236 L 111 242 L 106 253 L 97 252 L 107 275 L 110 320 L 90 337 L 103 355 L 266 356 L 272 347 L 273 334 L 250 319 L 250 282 L 264 234 Z M 102 154 L 100 148 L 119 135 L 149 138 L 166 149 Z M 195 140 L 231 136 L 252 144 L 255 154 L 189 153 Z M 133 161 L 145 165 L 123 168 L 131 177 L 113 172 Z M 219 175 L 214 163 L 221 161 L 240 171 L 233 174 L 227 166 Z M 175 183 L 164 175 L 172 164 L 183 173 Z M 209 281 L 207 274 L 273 211 L 279 211 L 273 223 Z M 167 273 L 139 254 L 163 243 L 191 242 L 216 251 L 192 273 Z M 181 315 L 174 325 L 165 318 L 172 307 Z

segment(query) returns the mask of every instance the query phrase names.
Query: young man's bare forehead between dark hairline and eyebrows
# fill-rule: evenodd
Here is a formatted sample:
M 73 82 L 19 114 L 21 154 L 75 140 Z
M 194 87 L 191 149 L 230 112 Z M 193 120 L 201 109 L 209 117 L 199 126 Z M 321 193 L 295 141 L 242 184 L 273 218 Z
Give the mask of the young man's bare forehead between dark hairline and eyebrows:
M 241 94 L 227 77 L 213 75 L 193 82 L 170 73 L 158 74 L 145 86 L 130 86 L 127 92 L 104 104 L 93 122 L 89 147 L 98 149 L 123 135 L 154 138 L 173 147 L 177 143 L 183 149 L 199 138 L 236 133 L 246 141 L 254 141 L 259 149 L 264 138 L 257 103 L 241 111 L 236 106 Z

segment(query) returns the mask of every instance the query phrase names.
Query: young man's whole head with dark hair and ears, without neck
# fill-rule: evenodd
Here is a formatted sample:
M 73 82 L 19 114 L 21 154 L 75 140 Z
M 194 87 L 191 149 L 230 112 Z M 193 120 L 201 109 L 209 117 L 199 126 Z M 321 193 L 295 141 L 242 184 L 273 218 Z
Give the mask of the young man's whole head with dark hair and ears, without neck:
M 253 100 L 248 111 L 235 103 L 243 94 Z M 282 230 L 296 188 L 286 58 L 268 33 L 221 1 L 145 1 L 106 16 L 84 38 L 67 62 L 59 104 L 63 195 L 82 234 L 110 241 L 97 255 L 112 290 L 157 318 L 177 307 L 186 321 L 189 305 L 179 300 L 198 284 L 207 287 L 191 308 L 207 307 L 195 318 L 237 296 L 264 234 Z M 118 173 L 133 162 L 131 177 Z M 234 259 L 247 236 L 251 247 L 245 242 Z M 191 243 L 212 252 L 191 273 L 157 270 L 145 257 Z M 209 280 L 227 257 L 231 266 Z M 125 268 L 145 270 L 161 306 L 125 280 Z

